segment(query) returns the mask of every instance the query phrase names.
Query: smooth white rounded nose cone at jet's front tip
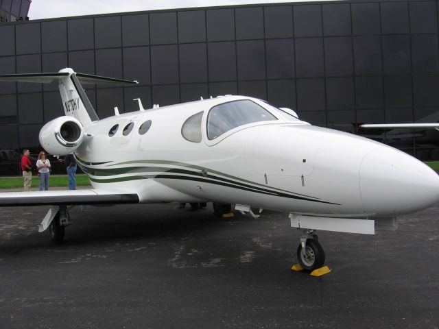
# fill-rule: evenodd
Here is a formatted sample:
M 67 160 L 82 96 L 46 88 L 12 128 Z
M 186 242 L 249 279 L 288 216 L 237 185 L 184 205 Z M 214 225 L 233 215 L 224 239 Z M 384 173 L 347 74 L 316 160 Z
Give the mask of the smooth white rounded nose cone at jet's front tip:
M 390 147 L 366 155 L 359 170 L 359 187 L 365 212 L 377 217 L 415 212 L 439 201 L 439 175 Z

